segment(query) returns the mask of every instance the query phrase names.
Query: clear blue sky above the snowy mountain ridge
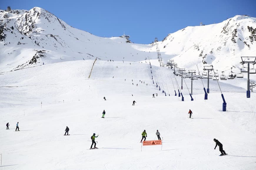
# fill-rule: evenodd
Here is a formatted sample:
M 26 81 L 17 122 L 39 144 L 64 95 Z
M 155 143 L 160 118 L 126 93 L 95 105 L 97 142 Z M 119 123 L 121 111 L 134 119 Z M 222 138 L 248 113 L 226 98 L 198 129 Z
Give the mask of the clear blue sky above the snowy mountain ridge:
M 41 7 L 72 27 L 100 37 L 130 35 L 134 43 L 163 40 L 186 26 L 220 23 L 235 15 L 256 17 L 256 0 L 0 0 L 0 9 Z

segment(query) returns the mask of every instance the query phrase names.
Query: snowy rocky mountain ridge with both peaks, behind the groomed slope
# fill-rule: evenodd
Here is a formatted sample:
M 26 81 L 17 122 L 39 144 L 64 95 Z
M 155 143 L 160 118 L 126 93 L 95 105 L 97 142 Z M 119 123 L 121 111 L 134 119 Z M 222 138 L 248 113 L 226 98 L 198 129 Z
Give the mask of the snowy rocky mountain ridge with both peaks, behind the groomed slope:
M 69 26 L 39 7 L 11 13 L 0 11 L 0 20 L 1 71 L 96 57 L 115 61 L 157 59 L 155 43 L 141 45 L 127 43 L 120 37 L 97 37 Z M 186 27 L 171 33 L 158 42 L 162 62 L 174 59 L 188 69 L 195 69 L 196 64 L 200 68 L 213 64 L 219 70 L 233 66 L 239 69 L 241 56 L 255 56 L 255 20 L 235 16 L 222 23 Z

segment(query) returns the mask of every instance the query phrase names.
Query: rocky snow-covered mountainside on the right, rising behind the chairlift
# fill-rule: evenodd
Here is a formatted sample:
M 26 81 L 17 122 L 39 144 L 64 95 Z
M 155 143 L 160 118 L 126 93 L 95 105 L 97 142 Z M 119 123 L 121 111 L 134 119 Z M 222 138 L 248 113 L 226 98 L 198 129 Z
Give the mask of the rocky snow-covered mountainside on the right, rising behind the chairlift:
M 159 50 L 164 59 L 172 58 L 185 68 L 210 64 L 218 69 L 240 69 L 241 56 L 256 54 L 255 21 L 237 15 L 222 23 L 189 26 L 169 34 L 159 42 Z

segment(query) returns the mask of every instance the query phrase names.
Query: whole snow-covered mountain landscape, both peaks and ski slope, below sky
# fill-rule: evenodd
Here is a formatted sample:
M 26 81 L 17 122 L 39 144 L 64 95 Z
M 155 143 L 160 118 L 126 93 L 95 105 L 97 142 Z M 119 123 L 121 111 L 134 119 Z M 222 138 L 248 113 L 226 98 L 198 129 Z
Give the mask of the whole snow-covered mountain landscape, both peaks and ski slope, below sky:
M 205 100 L 207 79 L 194 79 L 192 93 L 191 79 L 159 67 L 156 52 L 186 69 L 241 67 L 240 55 L 255 52 L 254 18 L 187 27 L 141 45 L 72 28 L 38 7 L 0 17 L 0 169 L 255 169 L 256 98 L 246 98 L 247 79 L 211 79 Z M 162 145 L 142 146 L 144 129 L 147 140 L 159 130 Z M 89 149 L 93 133 L 97 150 Z M 218 156 L 213 138 L 228 155 Z

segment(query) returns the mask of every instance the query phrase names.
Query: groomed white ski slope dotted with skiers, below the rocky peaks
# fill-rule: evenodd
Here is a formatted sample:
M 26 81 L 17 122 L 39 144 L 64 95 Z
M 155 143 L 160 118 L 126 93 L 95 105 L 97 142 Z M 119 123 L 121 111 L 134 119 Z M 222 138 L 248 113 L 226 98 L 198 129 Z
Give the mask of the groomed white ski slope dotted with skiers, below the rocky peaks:
M 246 98 L 246 79 L 220 82 L 228 110 L 222 112 L 216 81 L 210 80 L 208 100 L 201 80 L 193 81 L 194 101 L 183 82 L 181 101 L 174 96 L 177 84 L 172 85 L 176 78 L 180 87 L 181 78 L 168 68 L 150 69 L 149 60 L 93 63 L 1 73 L 0 169 L 255 169 L 256 98 L 253 92 Z M 184 80 L 190 88 L 191 80 Z M 153 93 L 158 96 L 152 98 Z M 66 126 L 69 136 L 64 136 Z M 163 145 L 141 148 L 143 130 L 147 140 L 157 139 L 159 130 Z M 93 133 L 99 135 L 99 149 L 88 150 Z M 228 155 L 218 156 L 213 138 Z

